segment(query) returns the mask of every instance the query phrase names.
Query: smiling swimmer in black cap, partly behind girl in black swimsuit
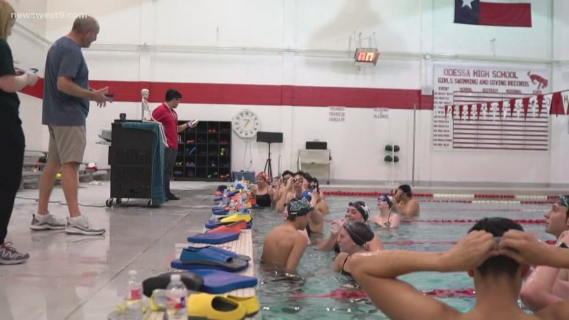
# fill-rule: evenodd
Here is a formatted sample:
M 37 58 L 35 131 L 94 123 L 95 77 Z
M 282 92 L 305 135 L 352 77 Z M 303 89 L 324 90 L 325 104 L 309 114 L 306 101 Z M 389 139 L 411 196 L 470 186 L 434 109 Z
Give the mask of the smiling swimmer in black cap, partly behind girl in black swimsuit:
M 342 225 L 346 221 L 360 221 L 366 223 L 369 218 L 369 206 L 363 201 L 350 202 L 348 204 L 348 210 L 344 219 L 335 220 L 332 222 L 332 228 L 330 231 L 330 236 L 326 241 L 320 244 L 320 250 L 322 251 L 336 251 L 340 252 L 340 247 L 338 246 L 338 236 L 342 229 Z M 380 237 L 374 235 L 373 239 L 368 241 L 363 245 L 366 251 L 378 251 L 384 249 L 384 244 L 381 242 Z

